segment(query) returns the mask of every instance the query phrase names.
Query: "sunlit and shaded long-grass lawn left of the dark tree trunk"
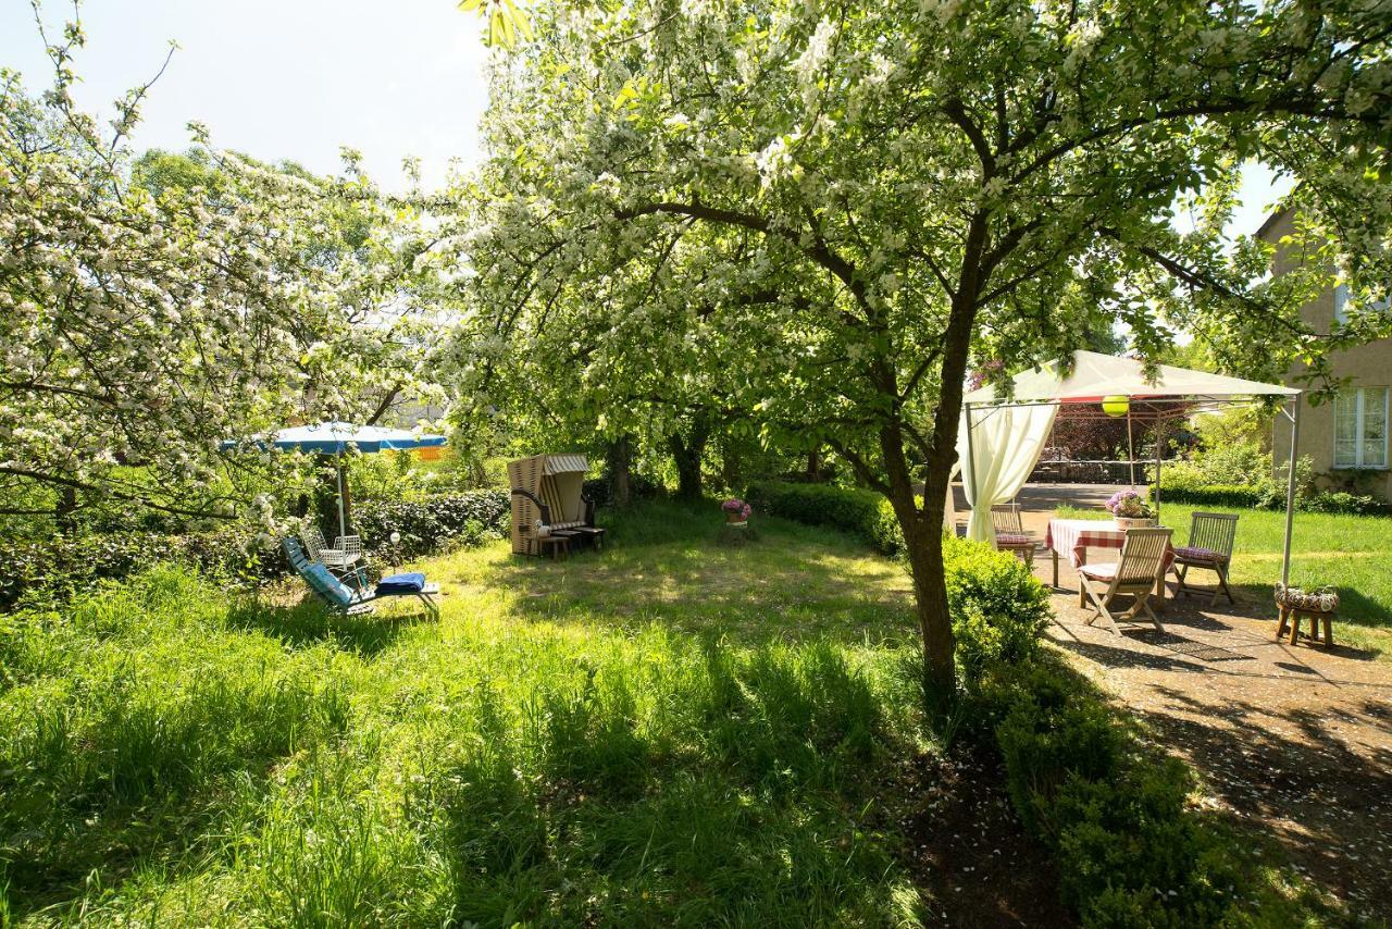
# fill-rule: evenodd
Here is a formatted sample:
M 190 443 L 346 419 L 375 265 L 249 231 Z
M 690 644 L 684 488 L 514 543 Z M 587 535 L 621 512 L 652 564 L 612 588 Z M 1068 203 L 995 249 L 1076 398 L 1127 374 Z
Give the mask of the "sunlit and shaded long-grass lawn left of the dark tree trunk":
M 438 624 L 170 570 L 0 616 L 0 925 L 920 922 L 906 578 L 715 520 L 426 561 Z

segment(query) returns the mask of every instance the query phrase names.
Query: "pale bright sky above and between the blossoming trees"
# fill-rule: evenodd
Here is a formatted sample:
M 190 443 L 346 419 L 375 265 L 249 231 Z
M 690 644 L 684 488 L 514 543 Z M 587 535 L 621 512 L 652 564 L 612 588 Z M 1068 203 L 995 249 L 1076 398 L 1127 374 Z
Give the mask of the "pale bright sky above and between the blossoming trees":
M 68 10 L 45 4 L 50 35 Z M 420 159 L 427 187 L 451 159 L 480 159 L 487 50 L 482 21 L 454 0 L 88 0 L 82 21 L 74 93 L 89 111 L 109 114 L 113 99 L 159 70 L 170 40 L 180 45 L 150 92 L 136 148 L 181 150 L 198 120 L 220 148 L 324 174 L 338 170 L 341 146 L 355 148 L 388 189 L 405 187 L 406 156 Z M 0 0 L 0 64 L 31 92 L 50 84 L 28 0 Z M 1254 233 L 1289 187 L 1249 166 L 1229 233 Z

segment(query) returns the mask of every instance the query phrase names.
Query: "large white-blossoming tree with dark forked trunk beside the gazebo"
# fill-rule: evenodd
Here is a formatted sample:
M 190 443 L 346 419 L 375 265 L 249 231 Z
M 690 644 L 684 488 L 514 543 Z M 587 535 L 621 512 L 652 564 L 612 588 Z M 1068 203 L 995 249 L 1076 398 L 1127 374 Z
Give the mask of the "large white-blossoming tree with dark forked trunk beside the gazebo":
M 1186 326 L 1318 375 L 1295 308 L 1320 274 L 1256 280 L 1268 252 L 1221 235 L 1249 157 L 1300 180 L 1356 288 L 1389 279 L 1378 4 L 561 1 L 532 25 L 461 191 L 464 383 L 546 384 L 614 429 L 702 391 L 837 448 L 903 528 L 938 692 L 973 358 L 1004 375 L 1121 320 L 1146 354 Z

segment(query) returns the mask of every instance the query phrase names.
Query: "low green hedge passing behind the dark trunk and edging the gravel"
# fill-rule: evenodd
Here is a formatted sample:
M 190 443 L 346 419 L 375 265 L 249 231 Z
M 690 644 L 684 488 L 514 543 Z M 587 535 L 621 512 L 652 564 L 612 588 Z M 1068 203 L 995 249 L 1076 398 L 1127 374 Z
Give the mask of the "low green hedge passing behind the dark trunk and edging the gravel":
M 883 552 L 902 546 L 888 501 L 870 492 L 770 481 L 748 499 Z M 1146 745 L 1086 678 L 1040 653 L 1048 593 L 1019 559 L 949 538 L 942 561 L 967 731 L 1004 760 L 1011 801 L 1052 851 L 1063 901 L 1084 926 L 1282 925 L 1306 915 L 1261 893 L 1233 840 L 1193 809 L 1182 762 Z

